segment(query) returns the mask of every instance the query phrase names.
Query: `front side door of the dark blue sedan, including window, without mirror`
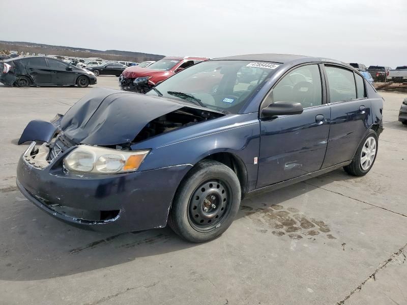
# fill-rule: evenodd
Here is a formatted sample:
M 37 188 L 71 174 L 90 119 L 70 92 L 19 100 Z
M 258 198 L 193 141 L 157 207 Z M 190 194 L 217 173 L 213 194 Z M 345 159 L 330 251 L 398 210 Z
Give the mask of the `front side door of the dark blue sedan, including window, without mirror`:
M 327 148 L 330 119 L 330 109 L 323 96 L 321 71 L 317 64 L 290 71 L 270 92 L 265 100 L 267 104 L 270 104 L 269 101 L 299 102 L 304 112 L 260 121 L 256 188 L 321 168 Z

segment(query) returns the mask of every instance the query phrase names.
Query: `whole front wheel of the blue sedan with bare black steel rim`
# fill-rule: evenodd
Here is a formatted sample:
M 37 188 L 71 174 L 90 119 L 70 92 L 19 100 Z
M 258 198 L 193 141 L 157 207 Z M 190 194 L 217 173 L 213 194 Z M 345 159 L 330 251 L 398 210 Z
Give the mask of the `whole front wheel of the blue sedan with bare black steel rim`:
M 172 201 L 168 224 L 188 241 L 212 240 L 234 221 L 240 199 L 240 182 L 235 172 L 220 162 L 203 160 L 182 180 Z

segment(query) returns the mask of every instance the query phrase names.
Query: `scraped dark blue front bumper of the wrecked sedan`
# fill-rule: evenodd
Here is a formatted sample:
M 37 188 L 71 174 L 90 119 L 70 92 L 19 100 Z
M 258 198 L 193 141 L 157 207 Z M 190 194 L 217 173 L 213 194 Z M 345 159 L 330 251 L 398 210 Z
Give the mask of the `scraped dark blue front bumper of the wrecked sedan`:
M 52 161 L 49 144 L 33 142 L 17 166 L 17 187 L 49 215 L 95 231 L 128 232 L 166 225 L 175 191 L 191 165 L 124 174 L 68 172 L 63 159 Z

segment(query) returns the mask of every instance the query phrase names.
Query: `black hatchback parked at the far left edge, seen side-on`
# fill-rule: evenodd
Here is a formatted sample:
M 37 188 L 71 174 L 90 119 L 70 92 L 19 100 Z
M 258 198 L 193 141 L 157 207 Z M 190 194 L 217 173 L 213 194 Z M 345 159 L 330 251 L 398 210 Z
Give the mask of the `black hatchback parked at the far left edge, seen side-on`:
M 0 82 L 9 86 L 74 86 L 84 88 L 96 84 L 95 75 L 61 60 L 31 56 L 0 62 Z

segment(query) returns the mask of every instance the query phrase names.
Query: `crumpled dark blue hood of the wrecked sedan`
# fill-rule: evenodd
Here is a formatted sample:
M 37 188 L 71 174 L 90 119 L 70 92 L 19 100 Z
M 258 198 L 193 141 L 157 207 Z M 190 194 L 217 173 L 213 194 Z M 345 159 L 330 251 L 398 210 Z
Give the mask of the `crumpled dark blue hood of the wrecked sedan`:
M 61 129 L 78 144 L 123 144 L 132 141 L 151 120 L 182 107 L 185 105 L 165 98 L 98 88 L 67 111 Z

